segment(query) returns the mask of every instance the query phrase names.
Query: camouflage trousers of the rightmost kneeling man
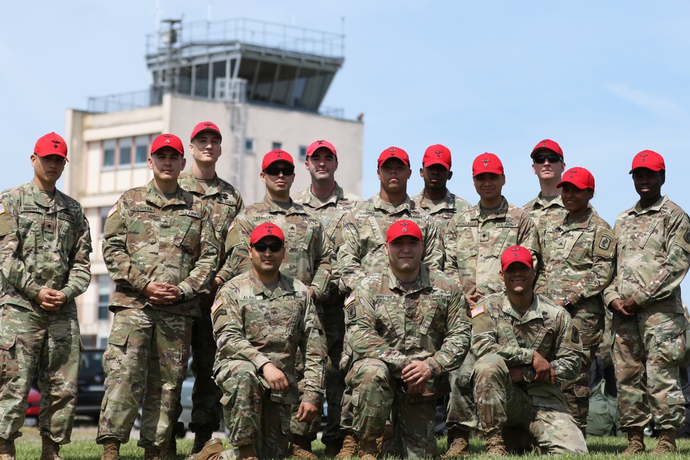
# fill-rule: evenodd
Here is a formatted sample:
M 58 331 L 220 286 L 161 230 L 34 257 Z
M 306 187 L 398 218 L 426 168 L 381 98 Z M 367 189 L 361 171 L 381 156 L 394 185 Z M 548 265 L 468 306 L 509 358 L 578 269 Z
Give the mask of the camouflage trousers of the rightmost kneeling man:
M 504 359 L 487 354 L 475 365 L 475 402 L 482 429 L 521 426 L 539 444 L 542 453 L 587 452 L 582 431 L 566 412 L 535 406 L 531 397 L 511 381 Z

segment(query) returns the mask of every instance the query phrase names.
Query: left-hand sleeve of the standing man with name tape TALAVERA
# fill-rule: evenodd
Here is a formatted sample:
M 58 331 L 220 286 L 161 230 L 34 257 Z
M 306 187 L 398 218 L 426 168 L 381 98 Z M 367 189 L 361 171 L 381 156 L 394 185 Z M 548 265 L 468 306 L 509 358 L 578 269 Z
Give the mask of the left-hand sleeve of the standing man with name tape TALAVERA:
M 127 238 L 135 238 L 137 235 L 130 234 L 126 226 L 128 216 L 126 200 L 120 197 L 115 208 L 108 214 L 106 225 L 103 227 L 103 261 L 106 263 L 110 278 L 115 281 L 115 284 L 128 290 L 142 292 L 152 279 L 132 264 L 127 250 Z

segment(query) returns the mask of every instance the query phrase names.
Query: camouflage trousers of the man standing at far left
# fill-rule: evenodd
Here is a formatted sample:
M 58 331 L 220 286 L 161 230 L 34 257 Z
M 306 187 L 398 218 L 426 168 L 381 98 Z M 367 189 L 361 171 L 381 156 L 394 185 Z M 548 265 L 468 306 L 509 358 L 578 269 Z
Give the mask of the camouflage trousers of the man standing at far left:
M 0 317 L 0 438 L 16 439 L 39 371 L 41 436 L 66 444 L 75 422 L 81 342 L 77 312 L 3 305 Z

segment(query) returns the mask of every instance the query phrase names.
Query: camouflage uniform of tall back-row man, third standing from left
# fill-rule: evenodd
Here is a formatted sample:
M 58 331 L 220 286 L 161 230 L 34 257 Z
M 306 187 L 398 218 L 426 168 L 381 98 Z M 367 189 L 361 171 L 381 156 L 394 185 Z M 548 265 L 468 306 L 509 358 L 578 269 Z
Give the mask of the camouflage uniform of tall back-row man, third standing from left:
M 235 220 L 235 216 L 244 209 L 242 197 L 235 187 L 218 176 L 213 185 L 204 190 L 191 170 L 180 174 L 177 179 L 182 190 L 195 195 L 210 207 L 210 219 L 217 241 L 225 241 L 228 228 Z M 219 248 L 219 265 L 226 259 L 225 246 Z M 226 274 L 216 276 L 228 281 Z M 213 294 L 199 297 L 201 317 L 193 321 L 192 325 L 192 373 L 194 374 L 194 389 L 192 392 L 192 421 L 189 429 L 192 432 L 214 432 L 220 428 L 220 399 L 223 395 L 220 388 L 213 381 L 213 360 L 216 345 L 213 340 L 213 323 L 211 323 L 211 304 Z M 177 404 L 177 419 L 182 412 L 181 403 Z

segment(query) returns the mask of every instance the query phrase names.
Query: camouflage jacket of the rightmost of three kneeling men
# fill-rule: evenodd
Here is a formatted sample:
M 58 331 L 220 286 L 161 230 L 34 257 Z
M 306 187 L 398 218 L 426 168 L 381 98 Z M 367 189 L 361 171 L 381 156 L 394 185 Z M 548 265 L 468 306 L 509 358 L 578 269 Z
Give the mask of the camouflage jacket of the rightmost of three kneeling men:
M 524 314 L 513 307 L 505 292 L 482 297 L 472 317 L 472 352 L 477 359 L 498 354 L 509 368 L 522 368 L 526 390 L 535 406 L 566 412 L 560 382 L 575 379 L 580 373 L 582 340 L 568 312 L 535 294 Z M 534 381 L 532 358 L 539 352 L 551 363 L 556 384 Z

